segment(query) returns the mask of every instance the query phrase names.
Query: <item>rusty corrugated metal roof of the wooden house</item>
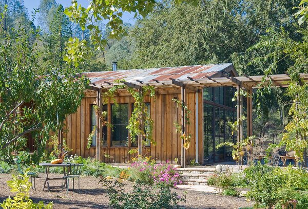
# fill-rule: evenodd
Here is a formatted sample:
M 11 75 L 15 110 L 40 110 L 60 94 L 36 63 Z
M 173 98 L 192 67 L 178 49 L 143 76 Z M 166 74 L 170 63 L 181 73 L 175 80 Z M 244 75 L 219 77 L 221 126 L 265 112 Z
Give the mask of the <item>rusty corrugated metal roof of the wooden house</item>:
M 90 82 L 97 86 L 108 86 L 106 82 L 112 83 L 115 80 L 124 79 L 126 82 L 140 84 L 143 83 L 171 83 L 170 79 L 178 81 L 187 81 L 187 77 L 192 79 L 202 79 L 206 76 L 211 77 L 224 69 L 233 66 L 227 64 L 215 65 L 195 65 L 183 67 L 164 67 L 152 69 L 134 69 L 134 70 L 117 70 L 117 71 L 102 71 L 102 72 L 85 72 L 83 74 Z

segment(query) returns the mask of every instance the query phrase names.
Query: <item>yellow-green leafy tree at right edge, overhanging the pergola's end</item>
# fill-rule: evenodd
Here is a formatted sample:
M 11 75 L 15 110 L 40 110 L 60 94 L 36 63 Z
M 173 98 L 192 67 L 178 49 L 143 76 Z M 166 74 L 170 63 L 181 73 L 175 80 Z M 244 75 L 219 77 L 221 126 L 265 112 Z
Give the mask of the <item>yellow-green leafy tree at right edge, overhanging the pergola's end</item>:
M 305 8 L 303 2 L 300 6 Z M 304 11 L 303 8 L 299 11 Z M 305 15 L 301 12 L 296 14 Z M 265 51 L 264 55 L 257 56 L 252 62 L 264 69 L 264 81 L 271 74 L 285 71 L 291 77 L 292 83 L 287 89 L 287 96 L 292 99 L 292 106 L 288 112 L 291 118 L 284 128 L 280 145 L 285 145 L 286 150 L 294 150 L 300 161 L 305 160 L 303 152 L 307 147 L 308 136 L 308 87 L 299 77 L 300 73 L 308 73 L 308 28 L 303 16 L 300 17 L 300 26 L 294 25 L 296 30 L 293 33 L 286 31 L 284 27 L 280 27 L 278 31 L 269 28 L 267 35 L 262 36 L 260 42 L 250 49 Z M 272 82 L 266 83 L 264 89 L 258 90 L 259 103 L 264 92 L 271 92 Z

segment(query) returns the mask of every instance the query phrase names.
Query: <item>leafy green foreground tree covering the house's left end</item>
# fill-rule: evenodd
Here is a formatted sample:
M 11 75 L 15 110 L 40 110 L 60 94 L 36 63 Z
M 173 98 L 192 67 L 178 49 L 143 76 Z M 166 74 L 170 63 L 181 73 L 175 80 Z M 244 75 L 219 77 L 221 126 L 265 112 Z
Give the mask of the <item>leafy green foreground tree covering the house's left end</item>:
M 35 50 L 25 27 L 6 31 L 4 21 L 0 19 L 0 156 L 12 161 L 11 153 L 17 150 L 25 160 L 38 162 L 50 131 L 61 128 L 80 105 L 88 80 L 65 63 L 61 69 L 38 65 L 42 52 Z M 36 147 L 31 159 L 23 151 L 28 134 Z

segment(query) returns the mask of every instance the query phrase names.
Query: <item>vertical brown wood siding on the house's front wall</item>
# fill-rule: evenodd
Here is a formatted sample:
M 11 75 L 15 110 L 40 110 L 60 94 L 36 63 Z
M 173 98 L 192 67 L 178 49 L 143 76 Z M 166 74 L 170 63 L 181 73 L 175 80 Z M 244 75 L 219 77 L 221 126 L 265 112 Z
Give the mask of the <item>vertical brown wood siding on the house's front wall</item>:
M 156 146 L 150 145 L 143 150 L 144 155 L 151 156 L 157 163 L 176 163 L 175 158 L 181 158 L 181 140 L 180 134 L 176 132 L 175 122 L 181 123 L 181 106 L 172 101 L 173 98 L 181 98 L 180 93 L 157 94 L 156 98 L 147 96 L 145 102 L 150 103 L 151 118 L 153 120 L 153 140 Z M 90 106 L 96 102 L 95 95 L 86 94 L 82 100 L 81 106 L 77 112 L 68 116 L 65 121 L 63 138 L 67 145 L 72 148 L 71 154 L 77 154 L 82 157 L 95 157 L 95 147 L 86 148 L 87 138 L 90 134 Z M 117 103 L 129 103 L 129 109 L 133 103 L 131 96 L 115 97 Z M 108 122 L 111 122 L 111 104 L 107 104 Z M 187 131 L 191 135 L 190 147 L 186 150 L 187 163 L 196 158 L 196 120 L 198 120 L 199 130 L 199 162 L 203 160 L 203 106 L 202 93 L 199 93 L 199 115 L 196 118 L 196 93 L 187 93 L 187 106 L 191 111 L 189 114 L 189 124 Z M 131 112 L 131 110 L 129 110 Z M 101 147 L 101 159 L 110 163 L 128 163 L 131 156 L 129 149 L 136 148 L 129 146 L 110 146 L 111 128 L 107 128 L 107 146 Z M 106 157 L 105 157 L 106 156 Z M 110 157 L 108 157 L 110 156 Z

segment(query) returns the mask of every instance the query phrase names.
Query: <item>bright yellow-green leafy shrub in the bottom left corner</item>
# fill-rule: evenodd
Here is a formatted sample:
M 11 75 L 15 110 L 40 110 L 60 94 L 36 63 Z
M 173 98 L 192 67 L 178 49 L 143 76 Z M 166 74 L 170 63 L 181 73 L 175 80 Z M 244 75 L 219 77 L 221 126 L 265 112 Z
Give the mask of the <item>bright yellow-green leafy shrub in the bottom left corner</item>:
M 13 175 L 13 180 L 8 181 L 8 186 L 11 187 L 11 192 L 16 193 L 13 197 L 8 197 L 3 201 L 0 206 L 3 209 L 34 209 L 34 208 L 52 208 L 52 202 L 44 205 L 43 201 L 38 203 L 33 203 L 29 197 L 29 189 L 31 187 L 31 182 L 29 182 L 29 177 L 26 174 L 24 175 Z

